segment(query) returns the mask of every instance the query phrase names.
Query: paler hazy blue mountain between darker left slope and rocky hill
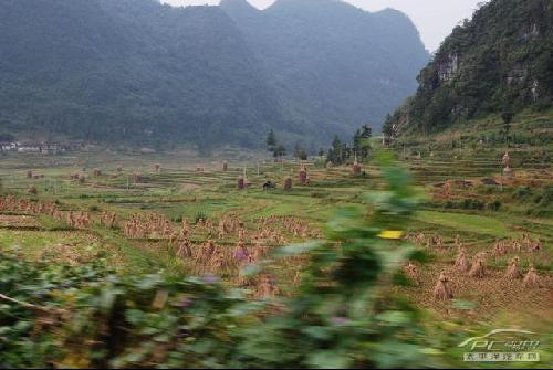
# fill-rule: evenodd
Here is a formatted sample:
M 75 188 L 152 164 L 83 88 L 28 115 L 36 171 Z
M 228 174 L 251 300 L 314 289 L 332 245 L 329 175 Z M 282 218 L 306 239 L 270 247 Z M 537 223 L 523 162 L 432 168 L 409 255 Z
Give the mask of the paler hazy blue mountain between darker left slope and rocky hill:
M 283 126 L 325 138 L 380 130 L 386 113 L 416 88 L 428 62 L 418 31 L 403 13 L 368 13 L 337 0 L 278 0 L 260 11 L 222 0 L 285 107 Z

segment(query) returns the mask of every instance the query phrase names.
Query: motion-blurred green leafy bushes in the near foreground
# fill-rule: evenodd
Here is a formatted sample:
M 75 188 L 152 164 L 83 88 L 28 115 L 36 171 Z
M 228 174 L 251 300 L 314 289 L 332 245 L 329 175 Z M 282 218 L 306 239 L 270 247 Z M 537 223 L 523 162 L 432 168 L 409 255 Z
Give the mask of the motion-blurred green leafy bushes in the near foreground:
M 215 276 L 117 276 L 102 262 L 40 265 L 0 252 L 0 366 L 428 366 L 418 313 L 383 292 L 413 253 L 397 237 L 416 204 L 408 175 L 388 165 L 369 208 L 337 212 L 327 241 L 274 255 L 309 252 L 292 298 L 244 299 Z

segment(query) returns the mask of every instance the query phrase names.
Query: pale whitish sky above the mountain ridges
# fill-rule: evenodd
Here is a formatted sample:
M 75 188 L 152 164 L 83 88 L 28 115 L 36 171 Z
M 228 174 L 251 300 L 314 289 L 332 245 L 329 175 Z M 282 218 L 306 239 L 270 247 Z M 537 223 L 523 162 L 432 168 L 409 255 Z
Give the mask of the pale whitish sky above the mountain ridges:
M 218 4 L 219 0 L 163 0 L 176 6 Z M 260 9 L 274 0 L 248 0 Z M 470 18 L 477 3 L 483 0 L 344 0 L 368 11 L 394 8 L 405 12 L 417 25 L 420 36 L 430 51 L 451 32 L 459 21 Z

